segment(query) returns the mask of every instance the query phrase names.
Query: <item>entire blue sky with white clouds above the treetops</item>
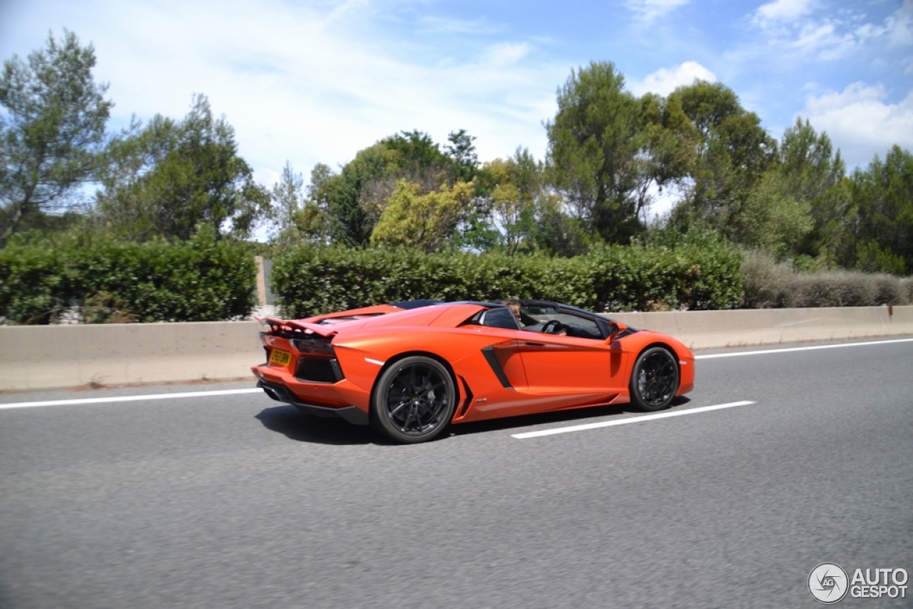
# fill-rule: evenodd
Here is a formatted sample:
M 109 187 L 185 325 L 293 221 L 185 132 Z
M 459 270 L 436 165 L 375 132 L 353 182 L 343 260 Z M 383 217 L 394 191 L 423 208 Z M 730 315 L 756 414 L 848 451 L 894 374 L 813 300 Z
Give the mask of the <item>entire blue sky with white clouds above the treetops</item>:
M 95 47 L 112 127 L 204 93 L 264 184 L 401 130 L 542 158 L 555 91 L 591 60 L 636 94 L 722 82 L 775 137 L 811 120 L 851 168 L 913 149 L 913 0 L 0 0 L 0 57 L 64 27 Z

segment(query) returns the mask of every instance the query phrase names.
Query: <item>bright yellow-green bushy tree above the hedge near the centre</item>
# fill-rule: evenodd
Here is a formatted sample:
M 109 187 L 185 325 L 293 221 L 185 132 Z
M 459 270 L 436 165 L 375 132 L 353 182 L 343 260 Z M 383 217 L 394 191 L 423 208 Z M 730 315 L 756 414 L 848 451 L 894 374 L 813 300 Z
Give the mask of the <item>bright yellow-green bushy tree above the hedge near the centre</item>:
M 458 182 L 423 194 L 422 185 L 400 180 L 371 235 L 383 247 L 416 247 L 435 252 L 445 247 L 460 220 L 469 213 L 473 186 Z

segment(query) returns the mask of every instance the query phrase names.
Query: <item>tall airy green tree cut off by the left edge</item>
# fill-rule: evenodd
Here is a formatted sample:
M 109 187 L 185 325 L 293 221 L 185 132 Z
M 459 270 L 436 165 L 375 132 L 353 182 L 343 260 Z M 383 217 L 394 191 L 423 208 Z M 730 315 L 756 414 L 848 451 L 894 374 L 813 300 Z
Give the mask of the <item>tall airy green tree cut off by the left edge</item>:
M 95 50 L 64 30 L 45 48 L 4 62 L 0 77 L 0 245 L 67 206 L 91 180 L 105 141 L 110 100 L 92 78 Z

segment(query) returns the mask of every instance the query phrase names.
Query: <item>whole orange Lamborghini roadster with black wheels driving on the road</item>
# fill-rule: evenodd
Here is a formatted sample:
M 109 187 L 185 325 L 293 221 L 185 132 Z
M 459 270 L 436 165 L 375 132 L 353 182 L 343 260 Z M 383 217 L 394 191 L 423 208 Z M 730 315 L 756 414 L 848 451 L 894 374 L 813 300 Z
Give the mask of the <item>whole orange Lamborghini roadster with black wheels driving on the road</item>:
M 694 388 L 676 339 L 543 300 L 410 300 L 264 318 L 269 397 L 424 442 L 447 425 L 604 404 L 668 407 Z

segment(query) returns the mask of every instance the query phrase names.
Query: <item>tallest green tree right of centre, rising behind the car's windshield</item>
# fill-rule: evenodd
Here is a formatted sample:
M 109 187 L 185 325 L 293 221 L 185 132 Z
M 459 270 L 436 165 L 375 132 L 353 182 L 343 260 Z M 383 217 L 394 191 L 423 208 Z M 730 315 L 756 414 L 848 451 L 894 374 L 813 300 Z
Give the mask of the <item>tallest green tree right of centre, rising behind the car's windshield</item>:
M 645 230 L 645 210 L 686 175 L 696 138 L 677 100 L 635 98 L 608 62 L 572 70 L 545 127 L 552 184 L 578 224 L 614 243 Z

